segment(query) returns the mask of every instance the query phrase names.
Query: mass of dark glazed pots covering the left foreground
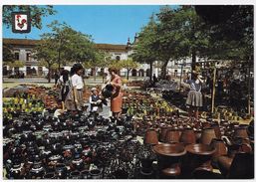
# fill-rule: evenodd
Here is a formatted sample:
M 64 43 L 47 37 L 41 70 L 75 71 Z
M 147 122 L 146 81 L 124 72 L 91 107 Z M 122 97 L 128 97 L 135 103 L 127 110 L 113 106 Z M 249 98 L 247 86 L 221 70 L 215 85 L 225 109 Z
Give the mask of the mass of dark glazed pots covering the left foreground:
M 4 166 L 8 179 L 104 178 L 103 165 L 112 161 L 115 146 L 130 134 L 130 117 L 116 120 L 81 113 L 64 112 L 53 117 L 56 108 L 39 112 L 13 113 L 4 121 Z M 109 144 L 108 144 L 109 143 Z M 108 157 L 109 156 L 109 157 Z M 91 169 L 92 165 L 95 165 Z M 108 163 L 110 164 L 110 162 Z M 105 176 L 108 178 L 108 176 Z

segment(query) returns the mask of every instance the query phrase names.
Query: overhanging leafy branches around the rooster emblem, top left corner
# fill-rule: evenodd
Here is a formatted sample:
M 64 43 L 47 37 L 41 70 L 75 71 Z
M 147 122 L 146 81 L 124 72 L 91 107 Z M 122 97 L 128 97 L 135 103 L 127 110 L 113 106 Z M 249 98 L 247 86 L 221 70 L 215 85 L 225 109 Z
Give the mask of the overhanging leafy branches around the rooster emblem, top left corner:
M 42 29 L 42 17 L 54 15 L 57 11 L 53 6 L 37 6 L 37 5 L 4 5 L 3 6 L 3 24 L 9 28 L 12 25 L 12 12 L 29 11 L 31 17 L 31 25 L 38 29 Z

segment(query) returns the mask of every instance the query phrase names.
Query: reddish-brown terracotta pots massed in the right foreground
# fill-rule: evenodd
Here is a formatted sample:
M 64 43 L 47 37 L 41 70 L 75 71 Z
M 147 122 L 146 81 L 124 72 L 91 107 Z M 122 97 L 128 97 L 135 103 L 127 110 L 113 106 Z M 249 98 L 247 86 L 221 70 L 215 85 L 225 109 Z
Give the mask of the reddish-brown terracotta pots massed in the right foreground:
M 162 120 L 158 128 L 150 128 L 150 126 L 148 125 L 145 131 L 144 143 L 152 144 L 154 147 L 157 145 L 167 147 L 177 143 L 184 146 L 186 154 L 181 156 L 181 172 L 176 174 L 181 178 L 191 178 L 193 172 L 197 170 L 212 172 L 213 168 L 219 169 L 223 177 L 226 177 L 237 153 L 253 152 L 253 142 L 248 135 L 250 127 L 247 124 L 226 120 L 218 123 L 212 119 L 200 121 L 172 118 Z M 157 155 L 158 150 L 154 152 Z M 169 150 L 169 155 L 173 153 L 175 152 Z M 162 174 L 161 162 L 158 162 L 158 170 Z M 165 177 L 168 176 L 165 174 Z

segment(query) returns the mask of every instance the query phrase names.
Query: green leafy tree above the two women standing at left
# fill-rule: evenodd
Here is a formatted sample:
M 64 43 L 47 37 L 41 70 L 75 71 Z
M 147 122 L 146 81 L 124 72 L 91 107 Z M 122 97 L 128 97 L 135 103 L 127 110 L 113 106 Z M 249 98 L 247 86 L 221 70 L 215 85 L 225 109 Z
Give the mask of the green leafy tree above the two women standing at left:
M 41 38 L 53 40 L 52 48 L 57 53 L 59 70 L 61 65 L 84 63 L 94 58 L 95 49 L 91 36 L 58 21 L 52 22 L 48 27 L 52 32 L 41 35 Z

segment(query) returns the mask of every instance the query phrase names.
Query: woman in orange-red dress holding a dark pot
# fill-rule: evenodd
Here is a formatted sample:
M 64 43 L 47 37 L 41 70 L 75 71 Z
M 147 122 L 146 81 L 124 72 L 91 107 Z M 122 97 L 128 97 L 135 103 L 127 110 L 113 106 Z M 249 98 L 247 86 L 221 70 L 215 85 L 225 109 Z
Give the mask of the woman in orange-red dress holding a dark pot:
M 111 110 L 114 117 L 120 116 L 122 112 L 123 92 L 122 92 L 122 79 L 117 75 L 118 70 L 110 68 L 111 84 L 114 86 L 114 94 L 111 97 Z

